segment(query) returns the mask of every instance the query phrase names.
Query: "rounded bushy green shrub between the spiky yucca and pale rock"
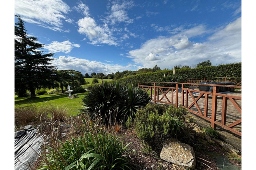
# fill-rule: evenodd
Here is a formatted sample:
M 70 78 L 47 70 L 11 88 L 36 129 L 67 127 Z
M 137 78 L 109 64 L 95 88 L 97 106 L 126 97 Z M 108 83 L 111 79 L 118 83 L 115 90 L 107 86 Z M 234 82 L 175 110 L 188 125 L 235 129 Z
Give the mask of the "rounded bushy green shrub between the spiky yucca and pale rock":
M 147 104 L 136 113 L 134 123 L 138 138 L 143 141 L 158 141 L 159 138 L 177 136 L 184 126 L 188 111 L 164 104 Z

